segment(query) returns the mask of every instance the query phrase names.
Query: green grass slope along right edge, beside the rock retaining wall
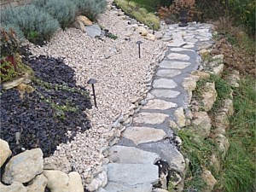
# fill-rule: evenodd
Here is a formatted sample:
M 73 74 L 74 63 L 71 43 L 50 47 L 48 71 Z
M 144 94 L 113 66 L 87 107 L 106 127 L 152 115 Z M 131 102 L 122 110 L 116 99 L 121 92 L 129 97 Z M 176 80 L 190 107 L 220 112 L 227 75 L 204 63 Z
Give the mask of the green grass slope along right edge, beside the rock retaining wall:
M 255 191 L 255 122 L 256 122 L 255 79 L 241 80 L 234 90 L 235 115 L 230 119 L 227 137 L 230 150 L 224 161 L 224 170 L 218 182 L 225 192 Z

